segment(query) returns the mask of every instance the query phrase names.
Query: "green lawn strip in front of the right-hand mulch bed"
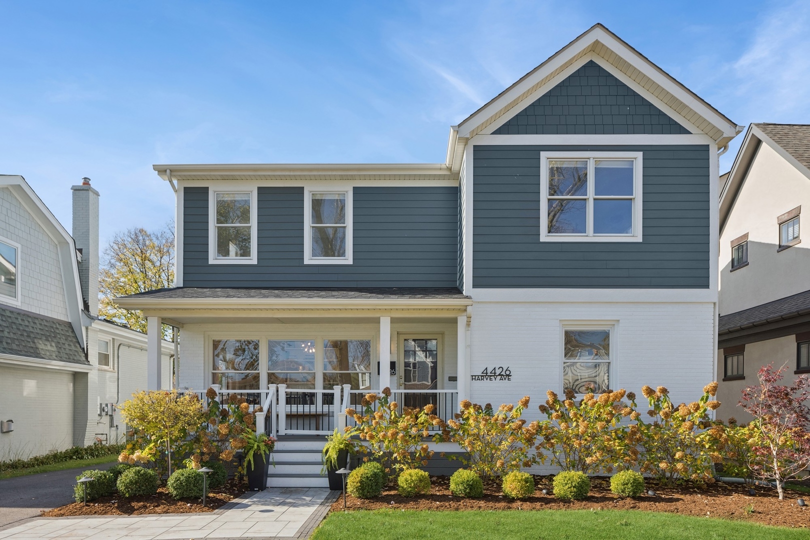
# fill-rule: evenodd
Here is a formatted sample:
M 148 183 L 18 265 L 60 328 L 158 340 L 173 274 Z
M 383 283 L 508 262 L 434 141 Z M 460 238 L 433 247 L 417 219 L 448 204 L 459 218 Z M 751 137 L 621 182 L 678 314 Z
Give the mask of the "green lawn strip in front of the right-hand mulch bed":
M 807 540 L 807 529 L 633 510 L 333 512 L 312 540 Z

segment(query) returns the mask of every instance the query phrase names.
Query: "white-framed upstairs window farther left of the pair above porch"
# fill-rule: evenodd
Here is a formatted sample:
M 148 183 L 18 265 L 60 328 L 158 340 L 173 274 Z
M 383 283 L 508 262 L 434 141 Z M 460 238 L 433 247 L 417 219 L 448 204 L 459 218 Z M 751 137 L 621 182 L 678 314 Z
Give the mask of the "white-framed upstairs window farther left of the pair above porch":
M 208 211 L 209 262 L 255 264 L 256 190 L 211 190 Z

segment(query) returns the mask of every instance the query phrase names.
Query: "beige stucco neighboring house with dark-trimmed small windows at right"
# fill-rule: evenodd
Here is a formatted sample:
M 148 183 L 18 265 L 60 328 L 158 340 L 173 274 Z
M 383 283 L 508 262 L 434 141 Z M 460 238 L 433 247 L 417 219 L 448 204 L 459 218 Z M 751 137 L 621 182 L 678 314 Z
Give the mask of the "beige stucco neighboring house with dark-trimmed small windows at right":
M 810 373 L 810 125 L 752 124 L 720 194 L 718 418 L 765 364 Z

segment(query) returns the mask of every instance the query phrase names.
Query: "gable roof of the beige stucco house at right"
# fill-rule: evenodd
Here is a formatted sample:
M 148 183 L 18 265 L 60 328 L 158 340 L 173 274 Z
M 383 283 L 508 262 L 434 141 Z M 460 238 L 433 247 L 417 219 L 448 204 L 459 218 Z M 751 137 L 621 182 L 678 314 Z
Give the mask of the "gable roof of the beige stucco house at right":
M 749 125 L 740 150 L 734 158 L 734 164 L 731 165 L 731 171 L 727 172 L 726 183 L 720 190 L 721 232 L 762 143 L 773 148 L 810 180 L 810 125 L 767 123 Z

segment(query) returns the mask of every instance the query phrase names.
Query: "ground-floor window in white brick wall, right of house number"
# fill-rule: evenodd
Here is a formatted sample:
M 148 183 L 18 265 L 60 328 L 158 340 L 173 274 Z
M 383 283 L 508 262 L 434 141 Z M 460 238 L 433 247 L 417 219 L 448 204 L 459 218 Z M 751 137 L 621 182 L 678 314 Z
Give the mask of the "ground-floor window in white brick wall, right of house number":
M 563 324 L 561 356 L 564 391 L 607 392 L 615 386 L 616 324 Z

